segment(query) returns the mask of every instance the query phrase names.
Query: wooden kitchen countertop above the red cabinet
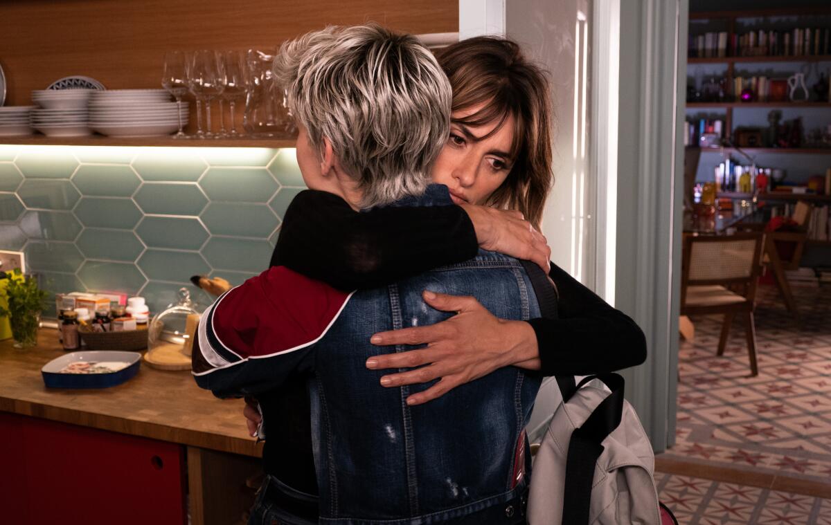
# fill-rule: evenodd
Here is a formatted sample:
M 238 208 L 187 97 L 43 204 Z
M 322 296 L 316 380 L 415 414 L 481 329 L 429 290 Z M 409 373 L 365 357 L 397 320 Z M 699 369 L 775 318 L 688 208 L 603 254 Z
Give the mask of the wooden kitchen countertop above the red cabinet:
M 27 350 L 0 341 L 0 410 L 204 449 L 260 457 L 248 436 L 243 400 L 219 400 L 189 371 L 141 364 L 127 382 L 105 389 L 47 389 L 41 368 L 65 354 L 57 330 L 43 328 Z

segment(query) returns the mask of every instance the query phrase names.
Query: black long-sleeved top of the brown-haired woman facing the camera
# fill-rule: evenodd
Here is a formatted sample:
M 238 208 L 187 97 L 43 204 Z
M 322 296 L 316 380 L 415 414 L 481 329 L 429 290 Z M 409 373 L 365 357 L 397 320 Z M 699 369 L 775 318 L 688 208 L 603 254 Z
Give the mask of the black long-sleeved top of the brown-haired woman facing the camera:
M 359 213 L 337 195 L 305 190 L 286 210 L 271 265 L 352 291 L 462 262 L 475 257 L 478 249 L 473 223 L 459 206 Z M 560 267 L 552 264 L 548 275 L 558 289 L 559 318 L 528 321 L 537 336 L 544 375 L 620 370 L 646 359 L 646 339 L 631 318 Z M 267 432 L 265 472 L 293 488 L 317 493 L 302 378 L 263 396 L 261 405 Z

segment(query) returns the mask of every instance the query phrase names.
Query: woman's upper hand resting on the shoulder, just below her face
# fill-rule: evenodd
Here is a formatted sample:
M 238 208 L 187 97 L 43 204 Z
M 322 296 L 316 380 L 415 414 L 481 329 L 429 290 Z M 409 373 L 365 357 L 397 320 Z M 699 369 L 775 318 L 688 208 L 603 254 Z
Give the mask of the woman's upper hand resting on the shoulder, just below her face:
M 524 219 L 522 213 L 476 204 L 460 206 L 473 223 L 480 248 L 534 262 L 546 274 L 551 270 L 548 240 Z

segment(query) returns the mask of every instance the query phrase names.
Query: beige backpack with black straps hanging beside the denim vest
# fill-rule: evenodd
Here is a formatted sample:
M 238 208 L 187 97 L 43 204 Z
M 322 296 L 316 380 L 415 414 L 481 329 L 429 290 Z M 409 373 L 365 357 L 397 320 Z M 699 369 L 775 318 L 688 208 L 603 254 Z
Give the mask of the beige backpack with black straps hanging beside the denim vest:
M 623 378 L 601 374 L 578 385 L 573 377 L 557 381 L 563 401 L 534 458 L 528 523 L 659 525 L 655 455 L 635 410 L 623 399 Z

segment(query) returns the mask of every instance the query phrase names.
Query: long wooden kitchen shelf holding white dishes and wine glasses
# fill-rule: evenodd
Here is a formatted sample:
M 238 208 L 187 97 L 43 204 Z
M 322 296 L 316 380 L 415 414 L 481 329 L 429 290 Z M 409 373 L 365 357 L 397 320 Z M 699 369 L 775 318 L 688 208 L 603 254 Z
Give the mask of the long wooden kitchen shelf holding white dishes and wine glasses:
M 67 146 L 175 146 L 191 148 L 293 148 L 294 139 L 187 139 L 159 137 L 0 137 L 0 145 L 67 145 Z

